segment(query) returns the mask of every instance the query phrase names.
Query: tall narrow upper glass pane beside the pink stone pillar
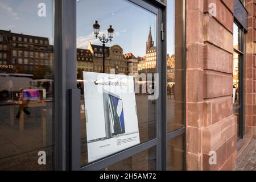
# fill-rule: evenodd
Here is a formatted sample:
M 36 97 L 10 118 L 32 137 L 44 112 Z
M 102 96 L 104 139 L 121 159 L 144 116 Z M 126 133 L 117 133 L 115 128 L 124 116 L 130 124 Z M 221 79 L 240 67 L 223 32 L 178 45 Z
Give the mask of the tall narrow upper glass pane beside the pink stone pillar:
M 183 1 L 167 2 L 167 131 L 184 127 Z

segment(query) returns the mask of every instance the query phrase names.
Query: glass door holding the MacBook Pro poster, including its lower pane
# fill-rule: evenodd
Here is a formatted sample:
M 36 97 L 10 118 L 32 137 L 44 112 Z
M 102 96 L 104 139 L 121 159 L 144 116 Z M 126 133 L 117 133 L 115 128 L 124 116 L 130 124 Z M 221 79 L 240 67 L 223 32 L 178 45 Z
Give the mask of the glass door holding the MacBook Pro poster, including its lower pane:
M 82 170 L 160 169 L 162 11 L 127 0 L 76 11 Z

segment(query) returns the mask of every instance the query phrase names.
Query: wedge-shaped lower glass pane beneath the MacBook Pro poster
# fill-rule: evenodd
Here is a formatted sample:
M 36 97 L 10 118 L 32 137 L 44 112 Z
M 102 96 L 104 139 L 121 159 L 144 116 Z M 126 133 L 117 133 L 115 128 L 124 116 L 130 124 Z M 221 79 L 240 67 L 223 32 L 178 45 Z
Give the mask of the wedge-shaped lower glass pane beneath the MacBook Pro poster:
M 112 166 L 104 168 L 102 171 L 155 171 L 155 154 L 155 147 L 152 147 L 146 151 L 131 156 L 130 158 L 121 160 Z

